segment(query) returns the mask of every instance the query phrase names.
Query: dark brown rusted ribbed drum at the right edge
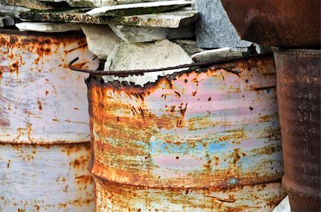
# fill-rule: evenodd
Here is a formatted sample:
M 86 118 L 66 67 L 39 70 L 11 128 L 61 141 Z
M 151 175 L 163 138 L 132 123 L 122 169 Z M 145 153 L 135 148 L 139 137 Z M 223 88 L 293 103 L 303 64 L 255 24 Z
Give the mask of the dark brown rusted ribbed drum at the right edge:
M 292 211 L 320 211 L 320 50 L 274 49 L 285 176 Z

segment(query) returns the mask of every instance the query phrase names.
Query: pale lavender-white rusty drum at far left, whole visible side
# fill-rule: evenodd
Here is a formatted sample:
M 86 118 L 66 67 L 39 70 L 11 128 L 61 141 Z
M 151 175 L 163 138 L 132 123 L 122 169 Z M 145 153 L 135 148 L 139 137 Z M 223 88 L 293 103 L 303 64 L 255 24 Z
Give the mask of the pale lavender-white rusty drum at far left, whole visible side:
M 0 211 L 93 211 L 82 33 L 0 31 Z

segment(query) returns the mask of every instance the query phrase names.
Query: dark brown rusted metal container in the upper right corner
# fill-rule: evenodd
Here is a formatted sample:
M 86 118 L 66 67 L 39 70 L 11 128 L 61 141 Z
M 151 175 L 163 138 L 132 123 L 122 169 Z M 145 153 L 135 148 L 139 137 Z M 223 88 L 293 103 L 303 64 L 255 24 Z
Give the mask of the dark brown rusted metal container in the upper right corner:
M 240 37 L 266 46 L 320 46 L 320 0 L 221 0 Z

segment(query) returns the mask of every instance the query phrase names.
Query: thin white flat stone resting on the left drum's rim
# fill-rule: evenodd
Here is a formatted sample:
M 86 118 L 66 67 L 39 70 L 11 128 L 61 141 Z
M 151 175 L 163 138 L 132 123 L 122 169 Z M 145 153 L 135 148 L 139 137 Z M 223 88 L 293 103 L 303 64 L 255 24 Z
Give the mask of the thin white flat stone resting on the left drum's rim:
M 22 22 L 16 23 L 16 27 L 19 28 L 19 31 L 39 31 L 46 33 L 81 31 L 78 23 Z

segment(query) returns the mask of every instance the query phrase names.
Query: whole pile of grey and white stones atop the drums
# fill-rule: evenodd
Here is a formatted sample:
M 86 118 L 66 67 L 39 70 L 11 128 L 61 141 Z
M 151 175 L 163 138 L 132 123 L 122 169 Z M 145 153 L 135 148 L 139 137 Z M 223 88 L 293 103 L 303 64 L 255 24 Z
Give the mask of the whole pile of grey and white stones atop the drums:
M 240 39 L 220 0 L 0 0 L 0 27 L 83 31 L 105 70 L 166 68 L 262 51 Z M 181 70 L 104 80 L 143 86 Z

